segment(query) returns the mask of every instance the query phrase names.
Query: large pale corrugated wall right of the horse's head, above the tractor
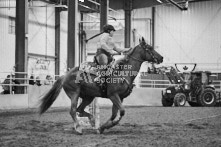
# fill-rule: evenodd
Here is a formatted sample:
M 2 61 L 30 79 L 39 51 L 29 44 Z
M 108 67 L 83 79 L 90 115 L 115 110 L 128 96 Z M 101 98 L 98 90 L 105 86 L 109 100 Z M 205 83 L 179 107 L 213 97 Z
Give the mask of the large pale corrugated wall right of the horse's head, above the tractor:
M 198 70 L 221 71 L 221 1 L 190 3 L 188 11 L 156 7 L 156 47 L 164 64 L 197 63 Z

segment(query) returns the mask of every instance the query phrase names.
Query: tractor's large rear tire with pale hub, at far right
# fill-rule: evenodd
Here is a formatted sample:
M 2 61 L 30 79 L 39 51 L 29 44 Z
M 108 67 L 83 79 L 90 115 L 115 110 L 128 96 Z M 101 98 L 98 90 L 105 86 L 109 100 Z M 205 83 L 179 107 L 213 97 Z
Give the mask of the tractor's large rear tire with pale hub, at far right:
M 212 89 L 205 89 L 200 93 L 197 100 L 200 106 L 213 107 L 216 105 L 216 93 Z

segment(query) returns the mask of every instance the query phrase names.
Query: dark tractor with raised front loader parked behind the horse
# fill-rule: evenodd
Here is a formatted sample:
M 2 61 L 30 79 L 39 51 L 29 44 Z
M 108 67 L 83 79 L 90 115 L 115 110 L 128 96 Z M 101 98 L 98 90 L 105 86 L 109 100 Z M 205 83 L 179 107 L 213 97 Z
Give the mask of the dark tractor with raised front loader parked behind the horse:
M 173 67 L 168 69 L 165 74 L 172 85 L 162 91 L 163 106 L 185 106 L 188 102 L 193 107 L 211 107 L 220 101 L 212 85 L 211 72 L 178 73 Z

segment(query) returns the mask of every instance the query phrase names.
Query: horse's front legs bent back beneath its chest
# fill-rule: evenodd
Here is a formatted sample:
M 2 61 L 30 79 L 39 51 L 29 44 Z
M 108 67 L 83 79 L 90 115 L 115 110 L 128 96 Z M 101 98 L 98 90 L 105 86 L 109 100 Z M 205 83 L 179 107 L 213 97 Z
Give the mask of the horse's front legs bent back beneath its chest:
M 113 96 L 110 97 L 110 100 L 113 103 L 113 107 L 112 107 L 112 116 L 110 119 L 108 119 L 108 121 L 106 123 L 104 123 L 100 128 L 99 128 L 99 133 L 103 133 L 105 129 L 109 129 L 114 127 L 115 125 L 117 125 L 120 120 L 122 119 L 122 117 L 125 114 L 125 110 L 124 107 L 122 105 L 122 101 L 119 97 L 118 94 L 114 94 Z M 114 120 L 117 116 L 117 112 L 118 110 L 120 111 L 120 117 L 118 120 Z

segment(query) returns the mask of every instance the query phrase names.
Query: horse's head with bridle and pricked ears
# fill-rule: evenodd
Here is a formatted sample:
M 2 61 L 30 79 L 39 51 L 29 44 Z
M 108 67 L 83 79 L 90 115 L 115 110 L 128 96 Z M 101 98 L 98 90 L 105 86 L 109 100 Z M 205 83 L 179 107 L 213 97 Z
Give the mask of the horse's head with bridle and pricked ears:
M 136 48 L 136 51 L 140 54 L 140 58 L 142 60 L 157 64 L 163 62 L 163 57 L 156 50 L 154 50 L 152 46 L 147 44 L 144 38 L 140 40 L 140 44 L 136 46 Z

